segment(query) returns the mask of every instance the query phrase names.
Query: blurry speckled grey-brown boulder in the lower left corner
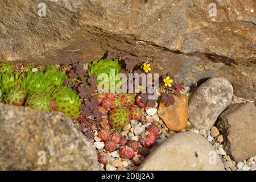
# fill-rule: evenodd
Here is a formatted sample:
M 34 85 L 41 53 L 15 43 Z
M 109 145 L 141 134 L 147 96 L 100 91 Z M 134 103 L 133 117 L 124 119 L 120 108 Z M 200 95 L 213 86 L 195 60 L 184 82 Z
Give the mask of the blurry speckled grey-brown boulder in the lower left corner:
M 92 144 L 61 113 L 1 104 L 0 146 L 0 170 L 99 169 Z

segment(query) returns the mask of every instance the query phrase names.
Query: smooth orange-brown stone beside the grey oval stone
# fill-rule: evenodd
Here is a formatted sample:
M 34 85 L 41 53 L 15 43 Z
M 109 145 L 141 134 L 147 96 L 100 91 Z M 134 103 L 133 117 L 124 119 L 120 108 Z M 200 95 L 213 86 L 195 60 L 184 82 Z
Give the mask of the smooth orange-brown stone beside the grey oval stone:
M 188 121 L 188 97 L 181 94 L 180 97 L 172 94 L 175 104 L 168 107 L 160 102 L 158 115 L 163 119 L 164 124 L 172 131 L 185 129 Z

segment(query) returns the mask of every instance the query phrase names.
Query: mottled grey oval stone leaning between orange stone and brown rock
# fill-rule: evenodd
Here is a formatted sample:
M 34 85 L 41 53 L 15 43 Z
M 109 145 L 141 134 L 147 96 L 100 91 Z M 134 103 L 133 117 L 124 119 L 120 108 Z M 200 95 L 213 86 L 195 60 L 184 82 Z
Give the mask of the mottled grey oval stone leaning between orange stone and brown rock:
M 233 87 L 226 78 L 210 78 L 192 94 L 188 119 L 197 129 L 210 130 L 218 116 L 230 105 Z

